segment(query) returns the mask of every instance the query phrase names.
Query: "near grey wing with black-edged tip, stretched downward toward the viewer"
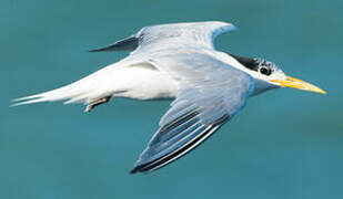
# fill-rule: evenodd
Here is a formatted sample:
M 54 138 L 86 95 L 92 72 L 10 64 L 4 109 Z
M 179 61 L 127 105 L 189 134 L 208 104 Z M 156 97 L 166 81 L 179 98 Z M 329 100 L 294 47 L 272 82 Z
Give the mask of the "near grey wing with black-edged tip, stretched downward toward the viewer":
M 179 92 L 132 174 L 161 168 L 196 147 L 244 106 L 253 90 L 250 75 L 210 55 L 182 53 L 153 64 L 179 82 Z

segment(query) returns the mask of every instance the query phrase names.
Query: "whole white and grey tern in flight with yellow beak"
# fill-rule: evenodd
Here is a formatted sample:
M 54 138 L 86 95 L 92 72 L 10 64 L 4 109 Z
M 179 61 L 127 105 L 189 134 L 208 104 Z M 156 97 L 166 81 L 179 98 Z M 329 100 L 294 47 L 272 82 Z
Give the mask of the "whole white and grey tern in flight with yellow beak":
M 17 98 L 13 105 L 65 100 L 65 104 L 84 103 L 90 112 L 114 97 L 174 98 L 134 174 L 153 171 L 196 147 L 241 111 L 250 96 L 276 87 L 325 94 L 286 76 L 272 62 L 216 51 L 215 36 L 234 30 L 219 21 L 145 27 L 91 51 L 132 51 L 123 60 L 63 87 Z

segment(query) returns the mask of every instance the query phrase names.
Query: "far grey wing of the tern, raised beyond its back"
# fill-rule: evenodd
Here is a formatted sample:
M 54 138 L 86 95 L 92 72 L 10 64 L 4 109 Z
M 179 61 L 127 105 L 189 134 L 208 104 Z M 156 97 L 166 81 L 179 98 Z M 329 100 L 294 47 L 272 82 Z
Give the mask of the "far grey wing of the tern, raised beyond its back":
M 122 51 L 138 49 L 159 50 L 165 46 L 203 45 L 213 48 L 216 35 L 231 32 L 235 27 L 220 21 L 170 23 L 145 27 L 137 34 L 120 40 L 104 48 L 94 49 L 90 52 Z

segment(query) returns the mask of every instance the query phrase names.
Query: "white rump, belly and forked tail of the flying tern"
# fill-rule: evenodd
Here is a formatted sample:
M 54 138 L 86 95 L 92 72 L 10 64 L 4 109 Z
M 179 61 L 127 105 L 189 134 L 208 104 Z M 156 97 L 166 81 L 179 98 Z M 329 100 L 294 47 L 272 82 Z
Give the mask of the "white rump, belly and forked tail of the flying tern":
M 49 92 L 13 100 L 11 106 L 64 101 L 64 104 L 89 104 L 101 97 L 129 97 L 138 100 L 172 98 L 176 95 L 176 84 L 147 63 L 109 65 L 84 78 Z

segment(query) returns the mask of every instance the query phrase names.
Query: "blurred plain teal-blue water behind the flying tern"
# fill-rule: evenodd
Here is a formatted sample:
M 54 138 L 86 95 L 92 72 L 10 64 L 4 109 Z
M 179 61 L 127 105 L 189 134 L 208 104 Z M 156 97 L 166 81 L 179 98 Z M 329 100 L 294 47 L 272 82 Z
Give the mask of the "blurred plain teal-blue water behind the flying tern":
M 341 0 L 2 0 L 0 198 L 343 197 Z M 114 100 L 9 107 L 124 57 L 87 53 L 151 24 L 221 20 L 239 31 L 219 50 L 261 56 L 327 95 L 280 88 L 188 156 L 129 175 L 170 102 Z

